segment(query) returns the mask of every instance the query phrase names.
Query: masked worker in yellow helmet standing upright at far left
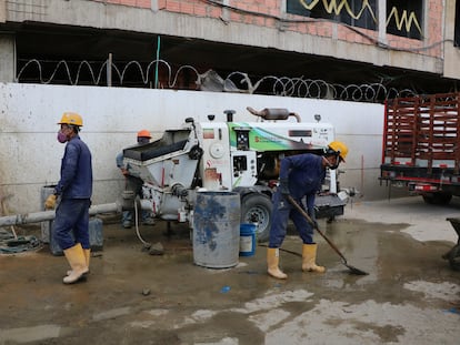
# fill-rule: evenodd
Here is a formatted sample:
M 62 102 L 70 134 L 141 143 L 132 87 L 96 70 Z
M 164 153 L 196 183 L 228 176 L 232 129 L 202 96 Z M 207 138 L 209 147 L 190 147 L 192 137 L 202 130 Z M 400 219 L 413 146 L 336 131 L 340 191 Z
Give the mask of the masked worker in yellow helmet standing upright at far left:
M 54 209 L 53 236 L 63 250 L 71 271 L 64 276 L 64 284 L 80 281 L 89 272 L 89 207 L 92 194 L 91 152 L 81 141 L 79 132 L 83 125 L 77 113 L 62 114 L 58 141 L 67 143 L 61 162 L 61 174 L 53 194 L 44 202 L 47 210 Z M 71 235 L 73 233 L 73 236 Z M 73 240 L 74 239 L 74 240 Z

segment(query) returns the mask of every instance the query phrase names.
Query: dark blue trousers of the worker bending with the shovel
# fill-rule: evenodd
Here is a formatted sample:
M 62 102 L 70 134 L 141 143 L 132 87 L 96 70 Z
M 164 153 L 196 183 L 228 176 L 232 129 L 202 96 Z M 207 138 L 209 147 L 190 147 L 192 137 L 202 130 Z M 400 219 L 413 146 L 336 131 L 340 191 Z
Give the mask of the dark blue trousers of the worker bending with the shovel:
M 300 200 L 296 200 L 297 203 L 304 209 L 303 203 Z M 278 191 L 273 194 L 273 211 L 271 212 L 271 229 L 269 247 L 279 248 L 284 241 L 288 221 L 292 220 L 299 232 L 300 239 L 304 244 L 312 244 L 313 242 L 313 229 L 310 223 L 303 217 L 303 215 L 291 205 L 291 203 Z

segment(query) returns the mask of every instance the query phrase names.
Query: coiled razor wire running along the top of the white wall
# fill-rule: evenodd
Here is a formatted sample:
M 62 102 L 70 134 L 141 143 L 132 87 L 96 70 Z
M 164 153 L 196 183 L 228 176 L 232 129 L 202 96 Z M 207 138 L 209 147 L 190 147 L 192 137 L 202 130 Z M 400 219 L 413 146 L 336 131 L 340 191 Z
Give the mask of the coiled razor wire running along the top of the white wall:
M 239 92 L 249 94 L 268 94 L 292 98 L 328 99 L 354 102 L 380 103 L 388 99 L 399 97 L 413 97 L 419 94 L 412 89 L 389 88 L 383 82 L 361 84 L 329 83 L 321 79 L 309 79 L 303 75 L 298 78 L 264 75 L 253 81 L 248 73 L 234 71 L 226 78 L 216 72 L 200 73 L 192 65 L 180 65 L 173 71 L 171 64 L 164 60 L 153 60 L 141 63 L 132 60 L 123 63 L 106 61 L 39 61 L 31 59 L 22 62 L 14 82 L 34 82 L 41 84 L 70 84 L 70 85 L 100 85 L 100 87 L 128 87 L 134 84 L 139 88 L 180 89 L 181 73 L 192 73 L 196 78 L 198 90 Z M 51 65 L 51 67 L 50 67 Z M 161 85 L 157 85 L 159 69 L 163 72 Z M 48 78 L 44 77 L 46 70 Z M 166 73 L 164 73 L 166 71 Z M 212 71 L 212 70 L 210 70 Z M 166 81 L 164 81 L 166 74 Z M 82 77 L 84 75 L 84 77 Z M 114 81 L 114 82 L 112 82 Z M 212 84 L 208 88 L 206 84 Z

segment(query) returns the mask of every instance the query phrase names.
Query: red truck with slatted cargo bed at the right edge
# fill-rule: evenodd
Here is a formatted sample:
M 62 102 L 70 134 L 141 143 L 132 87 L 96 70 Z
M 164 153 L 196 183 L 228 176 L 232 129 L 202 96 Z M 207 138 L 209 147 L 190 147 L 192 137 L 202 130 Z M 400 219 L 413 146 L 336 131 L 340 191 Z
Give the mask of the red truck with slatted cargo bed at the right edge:
M 460 93 L 386 102 L 380 181 L 428 204 L 460 196 Z

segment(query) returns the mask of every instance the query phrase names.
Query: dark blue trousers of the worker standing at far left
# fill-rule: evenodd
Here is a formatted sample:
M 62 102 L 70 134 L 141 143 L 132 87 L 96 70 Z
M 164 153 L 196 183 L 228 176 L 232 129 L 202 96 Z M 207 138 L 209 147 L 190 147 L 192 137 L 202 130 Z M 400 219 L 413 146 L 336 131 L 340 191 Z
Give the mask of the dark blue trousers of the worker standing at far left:
M 89 199 L 63 199 L 56 210 L 53 222 L 54 239 L 62 250 L 81 243 L 84 250 L 90 248 L 89 241 Z M 71 236 L 73 232 L 74 241 Z

